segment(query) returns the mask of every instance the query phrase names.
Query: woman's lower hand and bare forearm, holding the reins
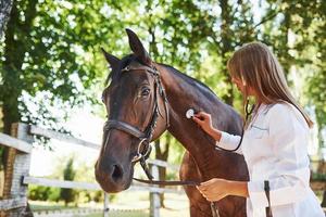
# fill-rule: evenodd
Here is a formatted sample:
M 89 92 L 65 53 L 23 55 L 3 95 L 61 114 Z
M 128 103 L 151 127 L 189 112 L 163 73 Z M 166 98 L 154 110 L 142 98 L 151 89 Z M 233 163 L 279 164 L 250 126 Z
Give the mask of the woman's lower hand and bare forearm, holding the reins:
M 226 179 L 211 179 L 197 187 L 200 193 L 210 202 L 220 201 L 227 195 L 248 197 L 248 182 Z

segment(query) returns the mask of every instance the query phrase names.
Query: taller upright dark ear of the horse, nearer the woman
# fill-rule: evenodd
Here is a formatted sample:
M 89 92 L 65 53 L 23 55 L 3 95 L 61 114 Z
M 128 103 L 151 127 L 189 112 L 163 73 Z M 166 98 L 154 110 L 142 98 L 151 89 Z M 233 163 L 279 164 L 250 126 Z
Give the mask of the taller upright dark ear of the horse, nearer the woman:
M 130 29 L 126 28 L 128 39 L 129 39 L 129 46 L 134 54 L 137 56 L 139 61 L 141 61 L 146 65 L 152 65 L 152 61 L 143 48 L 141 41 L 139 40 L 138 36 Z

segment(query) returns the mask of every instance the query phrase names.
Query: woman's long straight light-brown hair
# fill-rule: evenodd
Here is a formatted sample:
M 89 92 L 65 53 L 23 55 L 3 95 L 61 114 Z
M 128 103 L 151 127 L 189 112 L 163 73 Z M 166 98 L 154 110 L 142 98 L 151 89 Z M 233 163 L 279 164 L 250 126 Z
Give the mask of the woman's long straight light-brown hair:
M 261 102 L 273 104 L 286 101 L 300 111 L 309 127 L 313 126 L 313 122 L 290 93 L 283 68 L 266 44 L 244 44 L 228 60 L 227 68 L 233 77 L 252 88 Z M 246 101 L 247 95 L 244 98 Z

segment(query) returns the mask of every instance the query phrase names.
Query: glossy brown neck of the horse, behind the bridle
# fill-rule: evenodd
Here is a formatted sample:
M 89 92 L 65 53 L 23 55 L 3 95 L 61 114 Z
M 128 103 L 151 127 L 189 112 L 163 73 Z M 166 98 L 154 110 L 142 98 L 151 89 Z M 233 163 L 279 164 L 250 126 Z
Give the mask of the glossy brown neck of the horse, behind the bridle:
M 216 157 L 214 151 L 215 141 L 206 135 L 192 119 L 186 118 L 186 111 L 190 107 L 205 111 L 212 116 L 218 113 L 218 123 L 215 123 L 221 130 L 226 130 L 225 114 L 229 110 L 208 88 L 199 82 L 186 78 L 177 71 L 159 65 L 161 79 L 166 90 L 170 108 L 171 127 L 168 131 L 185 146 L 195 158 L 200 170 L 213 169 L 210 164 L 212 157 Z M 193 87 L 195 86 L 195 87 Z M 220 153 L 221 154 L 221 153 Z M 223 158 L 223 156 L 221 156 Z M 214 165 L 215 167 L 216 165 Z

